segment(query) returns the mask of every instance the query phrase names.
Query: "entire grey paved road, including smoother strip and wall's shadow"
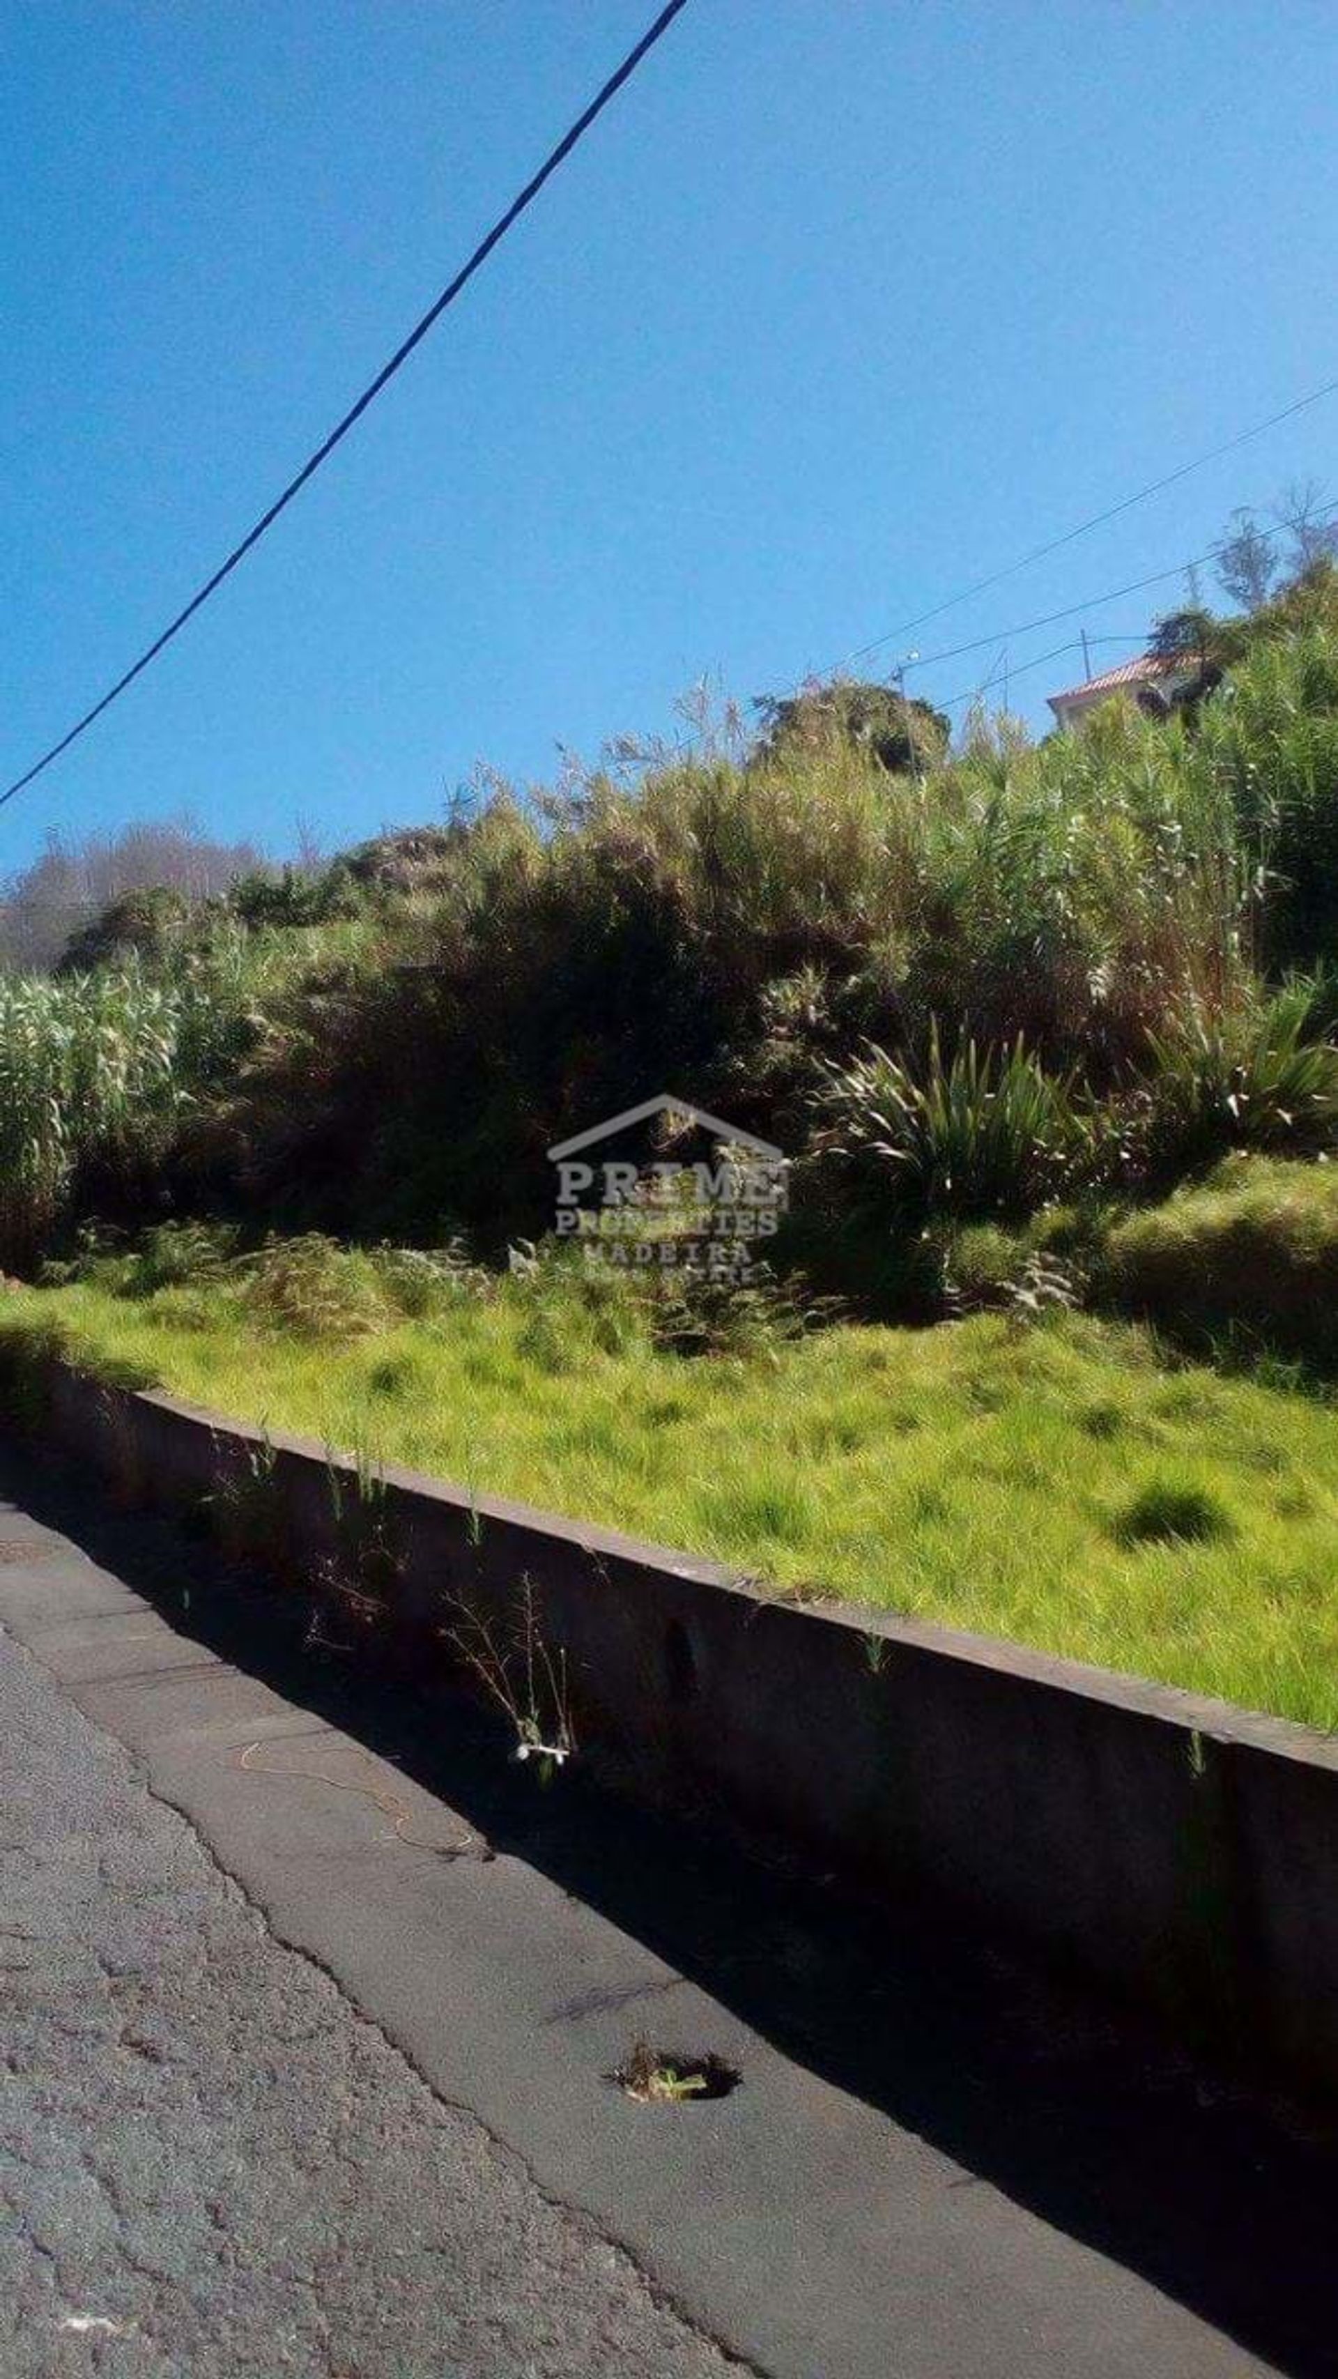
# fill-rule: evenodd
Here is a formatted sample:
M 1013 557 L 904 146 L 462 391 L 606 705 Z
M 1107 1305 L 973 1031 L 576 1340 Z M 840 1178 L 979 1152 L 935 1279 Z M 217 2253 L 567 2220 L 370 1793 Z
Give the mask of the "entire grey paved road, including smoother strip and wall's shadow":
M 10 1494 L 2 2379 L 1338 2374 L 1328 2117 Z

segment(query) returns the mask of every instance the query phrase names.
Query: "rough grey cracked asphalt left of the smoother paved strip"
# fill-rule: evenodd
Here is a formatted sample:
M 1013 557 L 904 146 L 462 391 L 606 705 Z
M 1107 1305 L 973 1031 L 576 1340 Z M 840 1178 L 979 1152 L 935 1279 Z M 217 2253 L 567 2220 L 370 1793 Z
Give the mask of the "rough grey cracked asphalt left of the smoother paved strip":
M 0 1634 L 7 2379 L 715 2379 Z

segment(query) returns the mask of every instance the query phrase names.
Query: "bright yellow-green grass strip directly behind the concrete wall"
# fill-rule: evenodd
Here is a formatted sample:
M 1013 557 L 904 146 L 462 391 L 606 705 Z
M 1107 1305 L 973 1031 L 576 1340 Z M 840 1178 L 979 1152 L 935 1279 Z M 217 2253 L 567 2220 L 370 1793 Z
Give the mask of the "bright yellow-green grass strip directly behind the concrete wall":
M 366 1258 L 347 1258 L 366 1261 Z M 475 1492 L 834 1594 L 1338 1725 L 1338 1427 L 1286 1380 L 1169 1366 L 1134 1323 L 982 1313 L 656 1351 L 625 1299 L 461 1287 L 425 1316 L 257 1325 L 254 1292 L 14 1292 L 93 1363 Z

